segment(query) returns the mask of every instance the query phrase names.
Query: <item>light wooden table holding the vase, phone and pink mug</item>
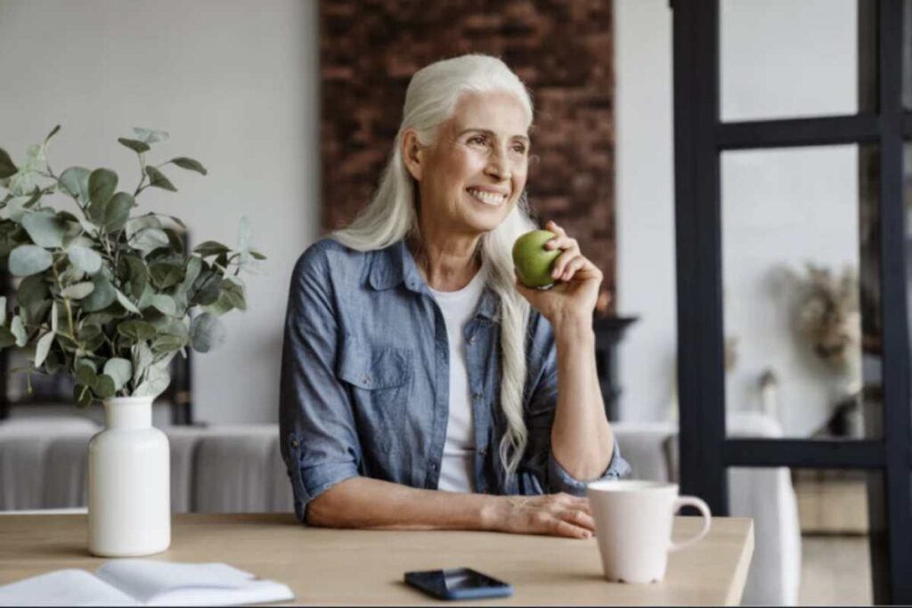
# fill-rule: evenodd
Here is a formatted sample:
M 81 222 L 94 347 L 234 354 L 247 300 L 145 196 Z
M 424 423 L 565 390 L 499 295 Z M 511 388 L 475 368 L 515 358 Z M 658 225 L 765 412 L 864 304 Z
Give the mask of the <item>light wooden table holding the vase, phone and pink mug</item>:
M 488 604 L 737 604 L 753 552 L 750 519 L 715 518 L 709 535 L 673 553 L 663 582 L 602 578 L 596 540 L 475 531 L 306 528 L 293 515 L 176 515 L 171 549 L 155 559 L 226 562 L 285 582 L 302 604 L 438 603 L 402 582 L 411 570 L 469 566 L 513 584 Z M 94 570 L 85 515 L 0 516 L 0 584 L 62 568 Z M 675 518 L 674 537 L 700 518 Z

